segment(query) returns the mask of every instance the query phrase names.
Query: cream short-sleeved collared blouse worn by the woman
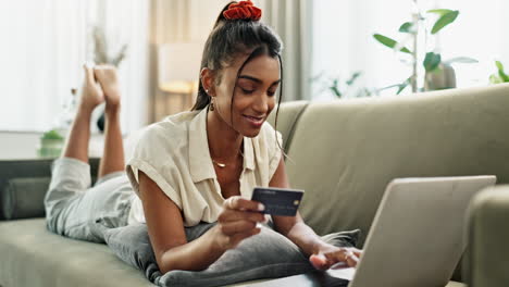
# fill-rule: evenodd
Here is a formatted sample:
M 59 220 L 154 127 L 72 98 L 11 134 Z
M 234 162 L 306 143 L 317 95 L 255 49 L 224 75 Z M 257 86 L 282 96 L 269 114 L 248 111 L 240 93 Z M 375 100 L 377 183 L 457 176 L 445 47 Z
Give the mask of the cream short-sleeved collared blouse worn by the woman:
M 139 199 L 138 171 L 150 177 L 181 209 L 185 226 L 215 222 L 225 200 L 221 194 L 207 139 L 207 112 L 184 112 L 145 128 L 127 163 L 134 197 L 128 223 L 145 223 Z M 244 138 L 240 196 L 251 198 L 257 186 L 266 187 L 280 163 L 278 132 L 264 123 L 260 134 Z

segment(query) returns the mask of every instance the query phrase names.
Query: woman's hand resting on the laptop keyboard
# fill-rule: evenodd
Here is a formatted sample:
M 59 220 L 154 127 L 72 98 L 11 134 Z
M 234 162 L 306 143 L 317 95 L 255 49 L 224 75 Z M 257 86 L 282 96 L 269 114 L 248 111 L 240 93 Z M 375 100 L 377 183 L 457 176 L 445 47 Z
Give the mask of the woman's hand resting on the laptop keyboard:
M 327 270 L 339 262 L 346 266 L 355 267 L 361 254 L 362 251 L 353 247 L 335 247 L 325 244 L 318 248 L 309 261 L 318 270 Z

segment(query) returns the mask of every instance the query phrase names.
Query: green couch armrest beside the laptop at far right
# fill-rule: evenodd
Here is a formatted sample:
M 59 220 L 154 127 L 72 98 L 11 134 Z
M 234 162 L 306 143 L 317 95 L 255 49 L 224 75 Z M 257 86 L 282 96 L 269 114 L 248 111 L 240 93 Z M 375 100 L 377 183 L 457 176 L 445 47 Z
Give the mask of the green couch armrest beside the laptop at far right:
M 471 202 L 468 226 L 469 286 L 508 286 L 509 185 L 489 187 Z

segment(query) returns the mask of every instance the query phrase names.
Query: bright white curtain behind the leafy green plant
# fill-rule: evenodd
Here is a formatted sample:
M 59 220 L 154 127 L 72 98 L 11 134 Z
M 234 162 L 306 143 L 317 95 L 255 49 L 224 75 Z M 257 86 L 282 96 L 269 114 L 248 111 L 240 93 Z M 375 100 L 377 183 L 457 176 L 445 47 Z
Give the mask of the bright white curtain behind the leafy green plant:
M 313 1 L 312 75 L 322 79 L 348 79 L 362 72 L 357 88 L 382 88 L 401 83 L 411 74 L 409 65 L 399 62 L 388 48 L 372 35 L 380 33 L 401 39 L 399 26 L 411 21 L 412 0 L 320 0 Z M 455 64 L 458 87 L 487 85 L 495 72 L 494 59 L 509 67 L 507 37 L 507 0 L 419 0 L 424 9 L 459 10 L 456 22 L 438 36 L 443 59 L 470 57 L 477 64 Z M 410 43 L 409 43 L 410 45 Z M 313 99 L 335 98 L 327 85 L 312 84 Z M 394 95 L 395 89 L 382 95 Z M 407 89 L 404 93 L 409 93 Z

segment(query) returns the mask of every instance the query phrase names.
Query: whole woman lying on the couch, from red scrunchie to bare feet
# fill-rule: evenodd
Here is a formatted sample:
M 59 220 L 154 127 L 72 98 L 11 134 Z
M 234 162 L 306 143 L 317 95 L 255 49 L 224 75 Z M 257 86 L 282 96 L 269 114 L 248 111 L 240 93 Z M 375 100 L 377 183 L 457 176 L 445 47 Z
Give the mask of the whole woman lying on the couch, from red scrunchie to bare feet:
M 45 199 L 50 230 L 102 242 L 98 222 L 109 227 L 146 222 L 162 273 L 207 269 L 260 232 L 257 223 L 265 217 L 263 205 L 249 200 L 252 188 L 289 187 L 281 135 L 265 123 L 277 89 L 281 101 L 282 45 L 260 15 L 249 1 L 225 7 L 204 47 L 193 111 L 147 127 L 127 176 L 116 73 L 109 66 L 85 67 L 78 113 Z M 89 188 L 90 114 L 103 101 L 104 154 L 99 180 Z M 324 242 L 299 214 L 272 221 L 316 269 L 357 264 L 359 252 Z M 188 242 L 184 227 L 201 222 L 216 224 Z

